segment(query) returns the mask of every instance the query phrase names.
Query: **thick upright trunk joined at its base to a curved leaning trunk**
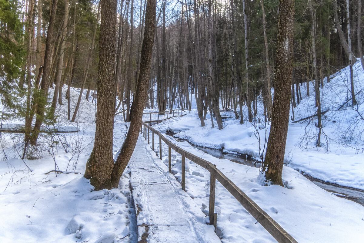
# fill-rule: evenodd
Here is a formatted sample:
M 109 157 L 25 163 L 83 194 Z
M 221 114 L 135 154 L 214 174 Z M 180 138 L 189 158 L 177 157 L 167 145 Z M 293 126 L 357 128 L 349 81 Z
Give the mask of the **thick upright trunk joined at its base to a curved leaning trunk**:
M 115 114 L 116 0 L 102 0 L 95 143 L 84 177 L 96 190 L 111 189 Z

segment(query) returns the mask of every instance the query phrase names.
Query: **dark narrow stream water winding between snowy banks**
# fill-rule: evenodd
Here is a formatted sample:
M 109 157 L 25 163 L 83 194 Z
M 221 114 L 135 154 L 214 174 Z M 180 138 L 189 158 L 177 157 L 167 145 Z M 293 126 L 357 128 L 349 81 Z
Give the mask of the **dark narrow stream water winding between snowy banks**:
M 168 134 L 168 135 L 173 136 L 173 134 Z M 178 138 L 175 138 L 175 139 L 177 141 L 186 141 L 186 140 L 181 140 Z M 222 153 L 222 151 L 219 149 L 210 149 L 210 148 L 193 145 L 191 143 L 189 143 L 189 144 L 191 146 L 193 146 L 194 148 L 197 148 L 198 150 L 201 150 L 216 158 L 224 158 L 224 159 L 230 160 L 232 162 L 236 162 L 238 164 L 249 165 L 249 166 L 257 167 L 257 168 L 262 166 L 262 164 L 260 162 L 252 160 L 251 156 L 247 156 L 244 154 L 225 154 L 225 153 Z M 311 180 L 318 187 L 321 187 L 324 190 L 331 192 L 338 197 L 343 197 L 345 199 L 355 201 L 356 203 L 359 203 L 364 206 L 364 191 L 362 191 L 360 189 L 355 189 L 355 188 L 340 187 L 339 185 L 335 185 L 335 184 L 327 184 L 327 183 L 324 183 L 323 181 L 317 180 L 315 178 L 312 178 L 312 177 L 309 177 L 306 175 L 304 175 L 304 176 L 306 178 L 308 178 L 309 180 Z

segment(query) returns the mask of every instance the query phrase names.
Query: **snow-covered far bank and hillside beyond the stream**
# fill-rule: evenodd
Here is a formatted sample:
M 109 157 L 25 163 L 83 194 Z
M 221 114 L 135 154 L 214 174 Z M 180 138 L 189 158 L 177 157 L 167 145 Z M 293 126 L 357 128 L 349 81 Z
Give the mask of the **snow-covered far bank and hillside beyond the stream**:
M 354 66 L 356 99 L 359 106 L 351 106 L 348 93 L 348 68 L 332 75 L 331 81 L 321 89 L 323 115 L 323 133 L 321 147 L 316 146 L 318 128 L 314 125 L 317 118 L 293 123 L 290 120 L 286 143 L 285 162 L 291 168 L 304 172 L 314 178 L 347 187 L 364 190 L 364 71 L 360 62 Z M 325 81 L 325 80 L 324 80 Z M 350 87 L 350 86 L 349 86 Z M 306 96 L 304 86 L 300 86 L 302 101 L 294 108 L 295 120 L 315 114 L 314 93 Z M 310 87 L 313 92 L 313 87 Z M 341 108 L 340 108 L 341 107 Z M 258 106 L 258 113 L 262 114 Z M 339 109 L 340 108 L 340 109 Z M 291 111 L 292 117 L 292 111 Z M 225 149 L 231 153 L 254 156 L 258 160 L 266 148 L 270 125 L 239 124 L 239 120 L 224 122 L 222 130 L 212 128 L 210 119 L 201 127 L 197 113 L 191 112 L 185 117 L 171 118 L 155 125 L 161 132 L 170 130 L 175 137 L 191 144 L 207 148 Z M 261 148 L 261 151 L 259 150 Z

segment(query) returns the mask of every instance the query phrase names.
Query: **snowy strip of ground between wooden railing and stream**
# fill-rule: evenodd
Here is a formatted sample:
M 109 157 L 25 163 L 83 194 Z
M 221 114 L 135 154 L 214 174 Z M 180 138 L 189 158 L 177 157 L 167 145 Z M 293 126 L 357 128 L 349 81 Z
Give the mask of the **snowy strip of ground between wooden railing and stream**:
M 287 166 L 283 170 L 286 188 L 263 186 L 258 168 L 217 159 L 188 142 L 166 137 L 186 151 L 213 164 L 253 199 L 300 243 L 363 242 L 364 207 L 339 198 Z M 155 152 L 159 139 L 155 136 Z M 181 156 L 172 150 L 172 173 L 181 182 Z M 168 146 L 162 142 L 162 159 L 168 166 Z M 210 173 L 186 159 L 186 191 L 207 215 Z M 216 184 L 217 235 L 223 243 L 276 242 L 244 207 L 220 184 Z

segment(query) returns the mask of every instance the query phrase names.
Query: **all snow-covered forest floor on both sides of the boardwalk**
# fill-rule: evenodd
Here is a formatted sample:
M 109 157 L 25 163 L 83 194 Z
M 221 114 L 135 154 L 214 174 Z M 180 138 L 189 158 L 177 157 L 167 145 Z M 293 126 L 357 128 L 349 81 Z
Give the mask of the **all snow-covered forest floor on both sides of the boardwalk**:
M 364 72 L 359 65 L 356 63 L 354 67 L 359 106 L 344 104 L 350 98 L 348 69 L 332 75 L 331 82 L 325 83 L 321 89 L 322 110 L 329 110 L 324 115 L 325 136 L 321 137 L 321 147 L 315 146 L 318 130 L 314 126 L 314 119 L 303 123 L 290 122 L 285 159 L 288 166 L 284 166 L 282 175 L 285 188 L 276 185 L 265 187 L 259 168 L 212 157 L 189 144 L 259 158 L 259 145 L 263 148 L 264 138 L 269 134 L 268 123 L 239 124 L 237 120 L 230 119 L 224 123 L 224 129 L 218 130 L 211 127 L 207 115 L 206 126 L 201 128 L 193 109 L 183 117 L 168 119 L 154 125 L 154 128 L 161 132 L 171 130 L 177 133 L 176 138 L 188 140 L 176 141 L 174 137 L 166 135 L 183 149 L 216 164 L 220 171 L 298 242 L 362 242 L 364 207 L 317 187 L 300 173 L 364 189 L 364 157 L 361 149 L 364 120 L 360 117 L 364 111 L 361 91 L 361 87 L 364 87 Z M 300 86 L 302 101 L 294 108 L 295 120 L 316 112 L 314 94 L 306 96 L 304 87 Z M 310 90 L 313 90 L 312 85 Z M 78 90 L 72 89 L 71 110 L 77 98 Z M 40 137 L 41 146 L 30 154 L 41 157 L 39 159 L 19 159 L 23 146 L 22 135 L 1 133 L 0 215 L 3 220 L 0 222 L 0 242 L 138 241 L 136 210 L 130 187 L 131 170 L 126 169 L 119 187 L 112 190 L 94 191 L 89 181 L 83 178 L 86 161 L 93 147 L 95 111 L 94 103 L 84 101 L 77 122 L 71 123 L 67 121 L 67 106 L 59 106 L 55 128 L 80 132 Z M 262 120 L 260 103 L 257 111 Z M 246 116 L 246 110 L 243 115 Z M 23 122 L 19 119 L 3 121 L 2 128 L 15 128 L 23 125 Z M 115 117 L 114 156 L 117 156 L 122 145 L 127 126 L 121 114 Z M 155 153 L 158 154 L 159 140 L 156 136 L 154 142 Z M 167 165 L 168 148 L 165 144 L 161 146 L 163 163 Z M 153 151 L 149 152 L 155 156 Z M 174 152 L 172 165 L 173 175 L 180 182 L 181 157 Z M 67 173 L 50 172 L 53 170 Z M 186 191 L 193 204 L 197 205 L 195 210 L 199 211 L 199 219 L 200 212 L 207 215 L 209 179 L 209 172 L 186 160 Z M 155 190 L 157 193 L 158 189 Z M 216 185 L 215 205 L 218 214 L 216 233 L 221 242 L 275 242 L 219 183 Z

